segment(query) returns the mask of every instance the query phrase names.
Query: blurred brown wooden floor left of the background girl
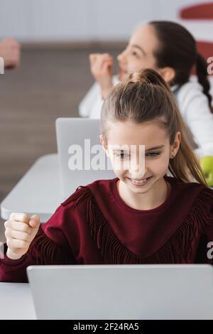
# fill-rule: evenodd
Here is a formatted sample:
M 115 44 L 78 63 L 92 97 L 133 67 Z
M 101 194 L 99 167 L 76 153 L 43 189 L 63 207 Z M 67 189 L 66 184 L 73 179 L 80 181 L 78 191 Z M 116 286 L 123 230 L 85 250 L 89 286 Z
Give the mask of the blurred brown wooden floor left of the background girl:
M 21 67 L 0 75 L 0 202 L 39 156 L 56 152 L 55 119 L 78 116 L 78 104 L 94 81 L 89 53 L 115 56 L 121 49 L 25 48 Z

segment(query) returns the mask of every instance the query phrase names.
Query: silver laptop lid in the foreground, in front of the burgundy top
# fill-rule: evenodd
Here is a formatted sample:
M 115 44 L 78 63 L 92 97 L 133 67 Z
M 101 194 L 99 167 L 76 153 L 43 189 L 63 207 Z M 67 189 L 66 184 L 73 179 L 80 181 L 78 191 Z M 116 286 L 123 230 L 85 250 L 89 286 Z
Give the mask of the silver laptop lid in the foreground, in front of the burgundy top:
M 210 265 L 28 266 L 38 319 L 213 319 Z

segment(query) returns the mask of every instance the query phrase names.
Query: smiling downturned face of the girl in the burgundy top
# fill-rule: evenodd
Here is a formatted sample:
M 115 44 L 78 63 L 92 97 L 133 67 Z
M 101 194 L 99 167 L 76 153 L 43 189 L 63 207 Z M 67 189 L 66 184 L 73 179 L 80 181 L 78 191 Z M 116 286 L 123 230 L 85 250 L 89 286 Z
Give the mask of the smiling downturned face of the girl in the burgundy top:
M 101 141 L 111 158 L 114 173 L 128 190 L 148 193 L 167 173 L 170 156 L 177 153 L 180 145 L 180 132 L 177 132 L 171 146 L 165 130 L 155 122 L 109 122 L 107 147 L 102 137 Z M 141 145 L 145 145 L 142 157 L 139 151 Z M 132 151 L 131 147 L 136 147 L 136 150 Z M 144 168 L 139 163 L 143 163 Z

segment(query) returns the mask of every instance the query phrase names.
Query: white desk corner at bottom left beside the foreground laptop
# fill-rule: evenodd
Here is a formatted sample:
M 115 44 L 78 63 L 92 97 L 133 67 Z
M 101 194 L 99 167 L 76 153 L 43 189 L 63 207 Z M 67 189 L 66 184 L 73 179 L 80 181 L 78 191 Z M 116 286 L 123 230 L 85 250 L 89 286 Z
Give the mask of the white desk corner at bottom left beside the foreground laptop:
M 29 284 L 0 283 L 0 320 L 36 319 Z

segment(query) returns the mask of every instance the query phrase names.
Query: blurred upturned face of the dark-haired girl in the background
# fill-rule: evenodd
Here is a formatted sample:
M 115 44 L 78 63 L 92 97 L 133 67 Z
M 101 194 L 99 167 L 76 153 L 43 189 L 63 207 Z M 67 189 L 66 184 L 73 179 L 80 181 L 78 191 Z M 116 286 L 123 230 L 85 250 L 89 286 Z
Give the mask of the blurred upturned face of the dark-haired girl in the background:
M 155 63 L 154 50 L 159 42 L 151 25 L 142 26 L 133 33 L 126 49 L 118 55 L 119 80 L 124 81 L 129 75 L 142 68 L 158 70 Z

